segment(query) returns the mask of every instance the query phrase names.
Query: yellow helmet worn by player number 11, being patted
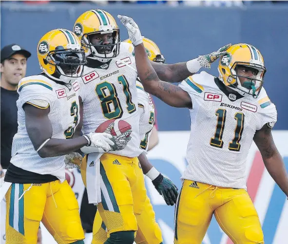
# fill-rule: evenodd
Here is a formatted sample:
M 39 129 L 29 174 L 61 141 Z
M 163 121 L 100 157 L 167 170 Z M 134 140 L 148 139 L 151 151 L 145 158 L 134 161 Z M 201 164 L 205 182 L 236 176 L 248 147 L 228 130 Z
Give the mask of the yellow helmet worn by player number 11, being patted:
M 236 66 L 248 66 L 258 70 L 256 77 L 246 77 L 247 81 L 241 84 L 236 73 Z M 239 43 L 231 45 L 227 54 L 223 55 L 218 65 L 219 78 L 222 82 L 241 95 L 252 95 L 257 98 L 264 82 L 266 68 L 264 59 L 258 49 L 250 44 Z

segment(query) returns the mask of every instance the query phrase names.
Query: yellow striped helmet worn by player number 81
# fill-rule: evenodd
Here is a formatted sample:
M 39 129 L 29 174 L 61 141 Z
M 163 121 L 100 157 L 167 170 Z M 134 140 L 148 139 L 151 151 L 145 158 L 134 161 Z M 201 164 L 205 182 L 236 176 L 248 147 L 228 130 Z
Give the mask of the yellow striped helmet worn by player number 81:
M 101 62 L 107 62 L 109 59 L 118 56 L 120 47 L 119 28 L 111 14 L 101 9 L 91 9 L 81 14 L 74 24 L 74 33 L 79 38 L 86 56 L 96 57 Z M 89 36 L 94 34 L 112 33 L 113 43 L 105 45 L 111 47 L 108 53 L 104 45 L 93 45 Z M 97 48 L 103 48 L 104 54 L 99 54 Z

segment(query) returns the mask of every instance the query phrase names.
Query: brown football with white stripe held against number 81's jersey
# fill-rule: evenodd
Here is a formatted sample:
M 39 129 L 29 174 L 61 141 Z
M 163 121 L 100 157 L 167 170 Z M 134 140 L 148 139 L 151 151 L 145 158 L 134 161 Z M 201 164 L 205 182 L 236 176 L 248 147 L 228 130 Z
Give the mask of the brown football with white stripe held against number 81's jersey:
M 114 122 L 114 126 L 111 129 L 111 134 L 113 136 L 121 135 L 125 133 L 126 131 L 132 129 L 131 125 L 124 120 L 110 119 L 110 120 L 103 122 L 101 125 L 99 125 L 95 132 L 98 132 L 98 133 L 104 132 L 112 122 Z M 131 132 L 127 133 L 126 137 L 129 137 L 130 134 Z

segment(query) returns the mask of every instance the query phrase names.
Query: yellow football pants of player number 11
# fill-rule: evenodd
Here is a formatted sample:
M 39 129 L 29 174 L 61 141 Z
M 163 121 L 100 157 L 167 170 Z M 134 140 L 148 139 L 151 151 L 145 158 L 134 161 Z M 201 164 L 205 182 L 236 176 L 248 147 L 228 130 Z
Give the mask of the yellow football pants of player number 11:
M 175 207 L 174 244 L 201 244 L 212 214 L 234 244 L 264 244 L 261 224 L 245 189 L 184 180 Z

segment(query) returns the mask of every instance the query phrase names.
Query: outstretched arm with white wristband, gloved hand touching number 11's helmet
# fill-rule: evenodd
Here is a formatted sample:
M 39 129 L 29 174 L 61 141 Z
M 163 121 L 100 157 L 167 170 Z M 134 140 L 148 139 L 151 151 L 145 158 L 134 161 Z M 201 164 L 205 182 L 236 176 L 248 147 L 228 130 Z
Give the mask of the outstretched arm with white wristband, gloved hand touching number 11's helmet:
M 198 56 L 187 62 L 175 63 L 175 64 L 159 64 L 150 61 L 155 72 L 161 80 L 174 83 L 181 82 L 188 76 L 197 73 L 201 68 L 211 68 L 213 63 L 218 57 L 226 54 L 226 50 L 231 46 L 231 43 L 219 48 L 217 51 L 211 54 Z

